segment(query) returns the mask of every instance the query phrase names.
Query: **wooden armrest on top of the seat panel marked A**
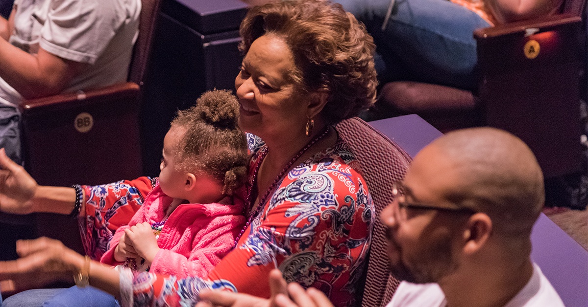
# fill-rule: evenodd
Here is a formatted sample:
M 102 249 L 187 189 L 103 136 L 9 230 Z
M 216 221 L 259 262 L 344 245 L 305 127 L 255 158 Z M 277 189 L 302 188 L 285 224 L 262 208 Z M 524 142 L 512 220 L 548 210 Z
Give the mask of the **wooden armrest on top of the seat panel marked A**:
M 563 25 L 570 25 L 573 23 L 581 23 L 580 16 L 572 14 L 557 14 L 543 16 L 542 18 L 530 19 L 528 21 L 519 21 L 505 23 L 504 25 L 492 26 L 489 28 L 477 29 L 474 31 L 474 37 L 479 38 L 493 38 L 512 33 L 526 32 L 527 29 L 540 29 L 541 32 L 552 31 Z

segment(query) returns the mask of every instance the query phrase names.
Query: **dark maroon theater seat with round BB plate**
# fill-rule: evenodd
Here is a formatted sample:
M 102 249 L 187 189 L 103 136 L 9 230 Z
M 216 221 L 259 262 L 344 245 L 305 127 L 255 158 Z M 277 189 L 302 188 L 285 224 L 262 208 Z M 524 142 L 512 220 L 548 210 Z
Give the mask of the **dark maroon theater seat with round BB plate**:
M 21 104 L 24 166 L 41 185 L 105 184 L 141 176 L 139 111 L 161 0 L 142 0 L 128 82 L 25 100 Z M 83 254 L 74 220 L 59 214 L 0 220 L 27 222 Z M 59 225 L 59 227 L 56 227 Z

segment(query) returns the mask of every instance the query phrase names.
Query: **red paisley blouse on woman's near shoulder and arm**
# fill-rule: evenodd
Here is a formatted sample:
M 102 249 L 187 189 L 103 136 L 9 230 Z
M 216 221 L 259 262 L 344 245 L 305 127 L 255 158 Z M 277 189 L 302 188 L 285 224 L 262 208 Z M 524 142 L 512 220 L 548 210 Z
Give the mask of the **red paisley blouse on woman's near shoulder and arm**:
M 265 146 L 259 149 L 249 166 L 248 190 Z M 121 272 L 121 291 L 133 293 L 121 305 L 192 306 L 202 288 L 269 297 L 268 275 L 276 267 L 286 281 L 314 286 L 336 306 L 353 305 L 374 211 L 348 146 L 339 141 L 293 168 L 263 206 L 237 247 L 205 279 Z

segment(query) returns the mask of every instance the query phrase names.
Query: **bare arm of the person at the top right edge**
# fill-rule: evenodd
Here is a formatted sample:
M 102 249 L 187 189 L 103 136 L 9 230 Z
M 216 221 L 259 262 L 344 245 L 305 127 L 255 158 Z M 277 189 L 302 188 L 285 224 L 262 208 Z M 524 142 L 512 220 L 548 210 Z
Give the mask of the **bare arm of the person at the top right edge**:
M 499 23 L 532 19 L 548 14 L 553 0 L 487 0 L 486 5 Z

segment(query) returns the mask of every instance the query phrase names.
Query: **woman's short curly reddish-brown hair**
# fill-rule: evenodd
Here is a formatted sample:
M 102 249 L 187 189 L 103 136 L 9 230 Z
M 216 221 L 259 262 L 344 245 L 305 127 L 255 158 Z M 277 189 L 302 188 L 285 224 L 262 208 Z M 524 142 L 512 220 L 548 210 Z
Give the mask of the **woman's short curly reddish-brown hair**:
M 328 91 L 322 112 L 328 123 L 356 116 L 375 101 L 373 38 L 341 5 L 325 0 L 270 2 L 251 8 L 239 31 L 243 53 L 267 33 L 284 39 L 294 57 L 294 81 L 306 92 Z

